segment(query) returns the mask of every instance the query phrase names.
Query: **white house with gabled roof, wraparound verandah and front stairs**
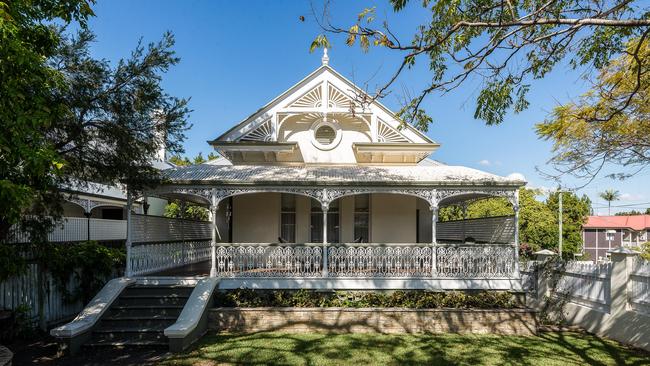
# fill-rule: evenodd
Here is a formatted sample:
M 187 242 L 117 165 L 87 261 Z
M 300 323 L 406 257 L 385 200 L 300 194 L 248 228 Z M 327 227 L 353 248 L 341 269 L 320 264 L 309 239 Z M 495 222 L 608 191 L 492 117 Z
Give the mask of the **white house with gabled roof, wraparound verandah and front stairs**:
M 210 222 L 127 209 L 126 276 L 51 334 L 73 350 L 182 349 L 205 332 L 217 288 L 522 291 L 523 177 L 432 160 L 439 144 L 377 101 L 358 107 L 361 93 L 325 53 L 210 139 L 221 158 L 164 170 L 144 195 L 204 206 Z M 441 207 L 488 197 L 512 214 L 438 220 Z

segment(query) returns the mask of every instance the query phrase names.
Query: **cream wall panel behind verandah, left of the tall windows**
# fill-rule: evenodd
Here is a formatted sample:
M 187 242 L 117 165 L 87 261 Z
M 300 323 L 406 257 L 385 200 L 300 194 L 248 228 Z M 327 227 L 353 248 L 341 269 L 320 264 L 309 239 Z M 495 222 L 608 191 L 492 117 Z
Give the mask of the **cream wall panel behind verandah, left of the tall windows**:
M 280 194 L 233 197 L 233 242 L 276 243 L 280 235 Z

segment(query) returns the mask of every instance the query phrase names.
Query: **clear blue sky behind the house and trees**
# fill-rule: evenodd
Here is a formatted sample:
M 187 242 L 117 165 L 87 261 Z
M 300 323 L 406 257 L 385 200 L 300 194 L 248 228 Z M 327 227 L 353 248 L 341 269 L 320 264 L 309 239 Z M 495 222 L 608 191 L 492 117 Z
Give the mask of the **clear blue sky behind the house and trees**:
M 187 134 L 186 154 L 206 155 L 207 140 L 219 136 L 275 96 L 320 66 L 321 51 L 309 53 L 309 44 L 319 33 L 310 1 L 99 1 L 96 17 L 90 21 L 97 35 L 93 46 L 96 57 L 116 61 L 127 57 L 140 38 L 159 40 L 169 30 L 176 36 L 178 66 L 164 76 L 166 90 L 175 96 L 191 97 L 193 127 Z M 414 4 L 415 5 L 415 4 Z M 387 1 L 334 1 L 333 22 L 351 25 L 364 7 L 377 6 L 377 18 L 388 19 L 403 39 L 418 24 L 426 21 L 418 7 L 395 16 Z M 306 20 L 301 22 L 300 16 Z M 372 49 L 363 53 L 347 47 L 343 39 L 333 38 L 330 65 L 357 82 L 374 87 L 386 81 L 400 61 L 398 54 Z M 428 78 L 426 60 L 404 74 L 393 93 L 383 103 L 393 110 L 400 107 L 404 90 L 417 92 Z M 509 115 L 499 126 L 486 126 L 473 119 L 478 81 L 471 81 L 444 96 L 432 96 L 424 108 L 434 118 L 428 135 L 441 143 L 432 158 L 450 165 L 464 165 L 495 174 L 523 174 L 529 186 L 551 188 L 556 183 L 544 180 L 536 167 L 549 170 L 546 161 L 550 144 L 537 138 L 536 122 L 560 102 L 585 90 L 580 74 L 558 68 L 544 80 L 535 82 L 529 97 L 530 108 Z M 580 193 L 586 193 L 595 209 L 606 214 L 597 193 L 608 188 L 623 197 L 616 206 L 650 201 L 650 172 L 644 171 L 624 182 L 597 178 Z M 565 185 L 575 185 L 565 179 Z M 625 207 L 620 209 L 643 208 Z M 650 204 L 647 205 L 650 207 Z M 614 209 L 612 210 L 614 211 Z

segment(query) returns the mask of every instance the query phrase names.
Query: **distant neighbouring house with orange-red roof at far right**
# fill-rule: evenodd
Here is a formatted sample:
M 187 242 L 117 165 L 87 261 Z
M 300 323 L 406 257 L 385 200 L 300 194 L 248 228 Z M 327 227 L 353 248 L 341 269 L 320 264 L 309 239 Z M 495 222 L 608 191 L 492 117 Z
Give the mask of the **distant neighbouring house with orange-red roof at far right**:
M 582 226 L 584 253 L 590 260 L 602 260 L 618 247 L 638 247 L 650 241 L 650 215 L 589 216 Z

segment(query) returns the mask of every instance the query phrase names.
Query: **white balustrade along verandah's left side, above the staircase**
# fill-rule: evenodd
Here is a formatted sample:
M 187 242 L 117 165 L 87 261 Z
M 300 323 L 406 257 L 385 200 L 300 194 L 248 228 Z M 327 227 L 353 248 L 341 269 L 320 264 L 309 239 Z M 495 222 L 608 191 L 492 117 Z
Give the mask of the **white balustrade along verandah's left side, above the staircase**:
M 160 272 L 210 259 L 210 240 L 146 243 L 131 249 L 134 276 Z

